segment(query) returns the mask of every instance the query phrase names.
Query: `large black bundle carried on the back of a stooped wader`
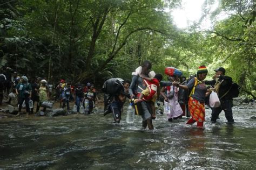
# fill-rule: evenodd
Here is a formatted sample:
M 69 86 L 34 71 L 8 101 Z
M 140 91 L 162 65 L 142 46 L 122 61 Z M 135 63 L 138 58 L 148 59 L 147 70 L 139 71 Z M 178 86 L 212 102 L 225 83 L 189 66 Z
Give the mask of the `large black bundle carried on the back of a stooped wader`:
M 120 78 L 108 79 L 104 82 L 102 91 L 106 94 L 115 95 L 119 91 L 124 91 L 123 82 L 124 80 Z

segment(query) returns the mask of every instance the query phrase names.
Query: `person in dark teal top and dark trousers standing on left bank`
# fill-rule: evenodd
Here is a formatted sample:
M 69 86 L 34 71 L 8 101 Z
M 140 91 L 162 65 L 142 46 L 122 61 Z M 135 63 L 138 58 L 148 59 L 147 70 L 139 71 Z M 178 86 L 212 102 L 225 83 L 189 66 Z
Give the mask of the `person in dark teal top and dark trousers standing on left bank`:
M 19 103 L 18 114 L 16 116 L 21 115 L 22 104 L 24 101 L 26 105 L 26 115 L 28 116 L 30 113 L 29 100 L 31 97 L 32 88 L 31 88 L 31 84 L 28 81 L 29 81 L 28 77 L 22 76 L 21 83 L 18 83 L 16 87 L 16 94 L 18 96 L 18 103 Z

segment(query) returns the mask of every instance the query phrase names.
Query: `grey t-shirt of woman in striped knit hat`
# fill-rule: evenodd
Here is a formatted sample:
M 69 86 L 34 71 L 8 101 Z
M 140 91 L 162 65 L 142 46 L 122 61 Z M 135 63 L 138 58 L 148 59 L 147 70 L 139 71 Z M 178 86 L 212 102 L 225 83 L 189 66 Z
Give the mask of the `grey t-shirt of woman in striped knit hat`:
M 193 89 L 194 87 L 194 82 L 196 80 L 191 79 L 186 86 L 190 89 L 190 91 Z M 197 84 L 196 89 L 194 90 L 194 94 L 192 95 L 192 97 L 196 100 L 198 100 L 199 102 L 205 102 L 205 94 L 207 91 L 207 87 L 205 85 L 205 82 L 201 82 L 199 84 Z

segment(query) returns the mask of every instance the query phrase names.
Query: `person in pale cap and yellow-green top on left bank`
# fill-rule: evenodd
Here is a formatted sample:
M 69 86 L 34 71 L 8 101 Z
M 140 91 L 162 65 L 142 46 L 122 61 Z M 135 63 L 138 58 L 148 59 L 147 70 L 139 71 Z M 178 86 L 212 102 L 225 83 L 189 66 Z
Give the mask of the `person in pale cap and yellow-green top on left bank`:
M 41 107 L 42 103 L 48 101 L 49 99 L 49 88 L 47 86 L 46 80 L 40 81 L 38 94 L 39 94 L 39 102 L 37 103 L 36 112 L 39 111 L 39 108 Z M 43 112 L 45 111 L 46 111 L 46 107 L 44 107 L 43 109 Z

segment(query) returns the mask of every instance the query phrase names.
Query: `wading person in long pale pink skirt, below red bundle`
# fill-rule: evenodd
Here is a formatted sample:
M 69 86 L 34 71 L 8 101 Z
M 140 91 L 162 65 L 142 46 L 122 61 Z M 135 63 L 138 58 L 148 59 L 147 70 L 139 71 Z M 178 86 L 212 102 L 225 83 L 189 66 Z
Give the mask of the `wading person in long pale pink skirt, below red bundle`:
M 178 76 L 169 76 L 168 79 L 169 81 L 179 81 Z M 178 102 L 178 91 L 179 88 L 173 85 L 163 87 L 160 91 L 160 95 L 164 97 L 165 103 L 171 106 L 170 114 L 166 114 L 169 122 L 172 122 L 173 119 L 177 119 L 183 115 L 183 110 Z

